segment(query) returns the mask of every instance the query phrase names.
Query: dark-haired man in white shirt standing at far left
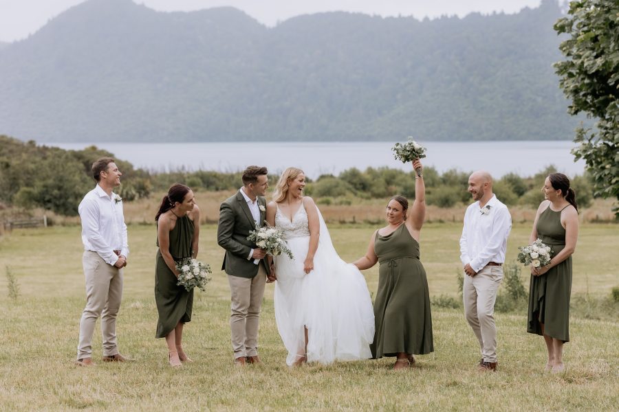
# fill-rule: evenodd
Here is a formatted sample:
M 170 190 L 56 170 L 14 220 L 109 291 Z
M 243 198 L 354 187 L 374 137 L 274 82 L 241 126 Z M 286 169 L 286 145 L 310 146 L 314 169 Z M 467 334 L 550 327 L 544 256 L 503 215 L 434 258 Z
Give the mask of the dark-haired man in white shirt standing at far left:
M 80 341 L 76 365 L 92 363 L 92 334 L 101 317 L 103 361 L 125 362 L 118 352 L 116 315 L 122 297 L 122 268 L 127 266 L 127 225 L 122 214 L 122 199 L 112 192 L 120 185 L 120 170 L 114 159 L 104 157 L 92 164 L 97 181 L 84 196 L 78 211 L 82 220 L 82 263 L 86 278 L 86 307 L 80 320 Z

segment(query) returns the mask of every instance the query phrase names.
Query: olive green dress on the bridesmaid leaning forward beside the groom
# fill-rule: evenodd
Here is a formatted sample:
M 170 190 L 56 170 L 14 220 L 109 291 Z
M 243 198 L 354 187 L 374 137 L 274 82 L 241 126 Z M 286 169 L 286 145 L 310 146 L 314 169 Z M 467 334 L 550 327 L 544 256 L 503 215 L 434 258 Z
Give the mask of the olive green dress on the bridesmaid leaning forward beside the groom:
M 178 218 L 174 229 L 170 231 L 170 254 L 175 261 L 191 258 L 193 241 L 193 221 L 187 216 Z M 157 242 L 159 246 L 159 240 Z M 179 322 L 191 321 L 193 308 L 193 290 L 187 292 L 184 286 L 177 286 L 178 279 L 172 273 L 157 249 L 155 263 L 155 302 L 159 312 L 155 338 L 164 338 Z

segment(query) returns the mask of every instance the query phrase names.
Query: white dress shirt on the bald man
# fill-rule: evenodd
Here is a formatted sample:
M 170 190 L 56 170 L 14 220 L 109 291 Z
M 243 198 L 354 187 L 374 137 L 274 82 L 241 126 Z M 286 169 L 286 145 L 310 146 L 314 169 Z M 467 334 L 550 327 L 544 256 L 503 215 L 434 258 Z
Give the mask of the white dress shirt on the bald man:
M 507 238 L 512 229 L 512 216 L 494 194 L 484 207 L 479 201 L 469 205 L 464 214 L 460 238 L 460 260 L 479 272 L 488 262 L 505 262 Z

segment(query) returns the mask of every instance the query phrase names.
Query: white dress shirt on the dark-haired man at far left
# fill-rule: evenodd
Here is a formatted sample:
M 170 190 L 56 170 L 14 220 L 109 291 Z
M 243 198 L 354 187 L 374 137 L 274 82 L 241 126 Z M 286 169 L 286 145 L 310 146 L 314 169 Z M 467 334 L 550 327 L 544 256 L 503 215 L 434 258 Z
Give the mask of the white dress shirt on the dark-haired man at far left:
M 96 185 L 84 196 L 78 211 L 82 220 L 84 250 L 98 253 L 111 265 L 118 260 L 114 251 L 120 251 L 120 255 L 127 258 L 127 225 L 124 224 L 122 201 L 118 194 L 107 196 L 105 190 Z

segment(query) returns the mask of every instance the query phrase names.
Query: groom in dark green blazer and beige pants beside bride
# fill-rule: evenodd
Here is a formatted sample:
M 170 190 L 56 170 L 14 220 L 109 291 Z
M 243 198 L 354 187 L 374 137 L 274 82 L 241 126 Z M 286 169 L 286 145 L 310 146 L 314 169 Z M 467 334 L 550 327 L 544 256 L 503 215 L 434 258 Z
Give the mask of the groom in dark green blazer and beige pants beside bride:
M 224 264 L 230 283 L 232 350 L 235 365 L 260 363 L 258 323 L 264 286 L 270 276 L 264 249 L 247 240 L 250 231 L 264 225 L 269 187 L 267 169 L 249 166 L 241 178 L 243 187 L 221 203 L 217 243 L 226 249 Z

